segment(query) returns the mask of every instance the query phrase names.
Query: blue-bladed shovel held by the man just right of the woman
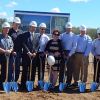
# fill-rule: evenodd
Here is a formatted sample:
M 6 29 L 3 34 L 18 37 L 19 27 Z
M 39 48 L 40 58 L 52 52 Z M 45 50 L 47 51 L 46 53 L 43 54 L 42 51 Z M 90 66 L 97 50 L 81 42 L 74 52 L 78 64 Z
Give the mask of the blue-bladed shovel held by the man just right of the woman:
M 59 90 L 60 90 L 60 91 L 64 91 L 64 90 L 66 89 L 66 87 L 67 87 L 67 83 L 65 83 L 65 73 L 66 73 L 66 71 L 67 71 L 67 61 L 68 61 L 68 59 L 65 60 L 63 83 L 60 82 L 60 85 L 59 85 Z

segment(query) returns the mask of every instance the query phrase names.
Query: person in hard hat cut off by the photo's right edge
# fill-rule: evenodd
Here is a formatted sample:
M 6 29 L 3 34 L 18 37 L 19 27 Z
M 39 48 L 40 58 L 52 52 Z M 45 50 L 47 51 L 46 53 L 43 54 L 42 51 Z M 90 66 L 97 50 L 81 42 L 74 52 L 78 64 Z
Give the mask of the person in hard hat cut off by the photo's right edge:
M 94 82 L 95 82 L 95 75 L 96 75 L 96 65 L 97 61 L 99 60 L 98 63 L 98 70 L 97 70 L 97 79 L 96 82 L 98 83 L 99 86 L 99 77 L 100 77 L 100 28 L 97 30 L 98 38 L 93 40 L 92 44 L 92 54 L 94 55 Z

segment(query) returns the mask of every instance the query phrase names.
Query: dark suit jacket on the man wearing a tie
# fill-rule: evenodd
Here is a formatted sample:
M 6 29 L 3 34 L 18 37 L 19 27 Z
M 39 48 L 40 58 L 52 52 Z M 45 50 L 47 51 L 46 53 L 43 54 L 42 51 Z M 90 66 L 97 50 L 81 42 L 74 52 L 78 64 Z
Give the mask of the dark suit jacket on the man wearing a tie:
M 23 34 L 22 46 L 24 54 L 27 54 L 28 52 L 38 52 L 39 50 L 39 36 L 34 33 L 32 41 L 30 37 L 30 32 L 26 32 Z

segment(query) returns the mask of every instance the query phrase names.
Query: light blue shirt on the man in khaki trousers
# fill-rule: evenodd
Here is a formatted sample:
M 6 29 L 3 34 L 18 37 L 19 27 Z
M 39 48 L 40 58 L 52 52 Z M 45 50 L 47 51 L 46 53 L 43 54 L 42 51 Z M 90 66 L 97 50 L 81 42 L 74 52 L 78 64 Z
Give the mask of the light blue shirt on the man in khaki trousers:
M 77 35 L 77 48 L 76 52 L 84 53 L 84 56 L 88 56 L 92 49 L 92 40 L 88 35 Z

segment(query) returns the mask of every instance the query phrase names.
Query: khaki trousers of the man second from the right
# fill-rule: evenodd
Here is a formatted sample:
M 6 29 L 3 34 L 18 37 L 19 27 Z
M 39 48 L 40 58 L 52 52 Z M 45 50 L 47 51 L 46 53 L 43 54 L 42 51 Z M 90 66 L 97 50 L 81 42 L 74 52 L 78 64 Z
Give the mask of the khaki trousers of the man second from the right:
M 83 67 L 83 61 L 82 57 L 84 54 L 74 54 L 74 70 L 73 70 L 73 77 L 74 77 L 74 83 L 77 83 L 79 80 L 81 82 L 87 82 L 87 75 L 88 75 L 88 64 L 89 64 L 89 56 L 87 56 L 84 67 Z M 84 70 L 83 70 L 84 69 Z M 81 75 L 80 75 L 81 72 Z M 83 81 L 82 81 L 82 75 L 84 75 Z

